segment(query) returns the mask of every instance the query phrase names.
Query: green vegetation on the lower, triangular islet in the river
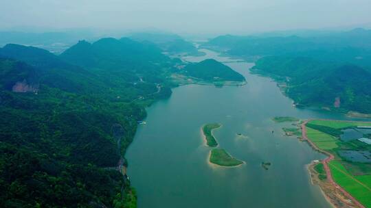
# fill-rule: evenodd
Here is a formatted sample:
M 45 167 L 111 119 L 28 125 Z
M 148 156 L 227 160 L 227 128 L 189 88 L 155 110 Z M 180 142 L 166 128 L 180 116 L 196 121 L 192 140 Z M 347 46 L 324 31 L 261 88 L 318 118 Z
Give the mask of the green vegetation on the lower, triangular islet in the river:
M 233 167 L 239 166 L 244 162 L 232 157 L 223 148 L 214 148 L 211 150 L 210 162 L 219 166 Z

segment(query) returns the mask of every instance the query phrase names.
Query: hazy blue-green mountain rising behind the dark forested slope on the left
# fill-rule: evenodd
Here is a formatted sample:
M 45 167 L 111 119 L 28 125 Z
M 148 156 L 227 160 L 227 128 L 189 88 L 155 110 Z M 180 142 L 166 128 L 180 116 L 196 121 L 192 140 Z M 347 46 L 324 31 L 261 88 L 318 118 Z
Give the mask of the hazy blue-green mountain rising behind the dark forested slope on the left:
M 111 90 L 120 89 L 117 94 L 133 94 L 130 97 L 156 92 L 157 85 L 166 82 L 164 73 L 174 62 L 154 44 L 128 38 L 103 38 L 93 44 L 80 41 L 59 57 L 89 70 L 89 73 L 100 75 L 100 81 L 110 83 Z M 126 88 L 120 86 L 123 81 Z M 161 87 L 161 94 L 171 92 L 165 85 Z M 123 97 L 128 98 L 128 95 Z

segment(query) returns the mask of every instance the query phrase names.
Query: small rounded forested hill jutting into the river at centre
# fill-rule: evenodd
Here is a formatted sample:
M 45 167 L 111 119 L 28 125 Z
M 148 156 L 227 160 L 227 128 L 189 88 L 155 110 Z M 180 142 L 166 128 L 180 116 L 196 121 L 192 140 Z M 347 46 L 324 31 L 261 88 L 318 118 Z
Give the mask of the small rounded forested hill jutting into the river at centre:
M 205 81 L 245 81 L 243 75 L 240 75 L 229 66 L 212 59 L 189 64 L 184 68 L 184 71 L 190 77 L 196 77 Z

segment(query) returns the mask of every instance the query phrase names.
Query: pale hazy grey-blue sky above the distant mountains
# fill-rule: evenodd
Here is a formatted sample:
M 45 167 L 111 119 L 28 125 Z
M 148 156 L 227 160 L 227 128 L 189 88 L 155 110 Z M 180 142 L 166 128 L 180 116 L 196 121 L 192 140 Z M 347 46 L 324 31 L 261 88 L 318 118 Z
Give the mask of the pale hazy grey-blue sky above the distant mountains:
M 371 23 L 371 0 L 0 0 L 0 29 L 249 33 Z

